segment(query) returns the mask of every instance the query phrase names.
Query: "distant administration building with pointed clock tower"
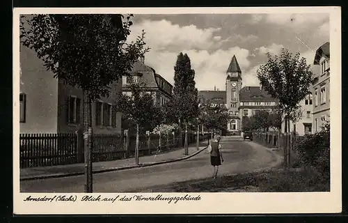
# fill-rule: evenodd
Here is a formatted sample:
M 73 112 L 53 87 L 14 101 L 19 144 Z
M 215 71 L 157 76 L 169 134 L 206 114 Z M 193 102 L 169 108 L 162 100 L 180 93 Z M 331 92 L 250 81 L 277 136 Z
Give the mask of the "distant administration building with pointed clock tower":
M 243 116 L 253 116 L 261 109 L 271 111 L 278 102 L 260 86 L 242 86 L 242 70 L 236 56 L 232 57 L 226 75 L 226 91 L 198 91 L 198 99 L 202 104 L 224 105 L 231 117 L 228 132 L 240 134 Z

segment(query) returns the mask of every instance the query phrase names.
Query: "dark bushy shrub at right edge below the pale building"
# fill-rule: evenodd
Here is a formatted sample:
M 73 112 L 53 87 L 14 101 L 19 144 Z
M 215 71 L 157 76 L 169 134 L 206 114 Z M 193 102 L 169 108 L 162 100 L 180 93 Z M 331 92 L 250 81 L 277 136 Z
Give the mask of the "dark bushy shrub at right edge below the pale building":
M 330 125 L 327 123 L 322 131 L 306 135 L 296 140 L 294 149 L 301 164 L 315 167 L 322 174 L 330 173 Z

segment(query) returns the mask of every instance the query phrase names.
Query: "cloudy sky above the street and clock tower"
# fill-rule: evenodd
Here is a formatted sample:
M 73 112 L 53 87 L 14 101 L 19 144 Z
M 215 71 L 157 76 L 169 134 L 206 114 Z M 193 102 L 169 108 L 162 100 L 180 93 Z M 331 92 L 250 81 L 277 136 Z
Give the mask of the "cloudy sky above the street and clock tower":
M 313 66 L 315 50 L 329 42 L 329 14 L 168 14 L 134 15 L 129 41 L 145 31 L 150 51 L 145 64 L 171 84 L 177 55 L 187 53 L 198 91 L 225 91 L 232 59 L 242 70 L 243 86 L 258 86 L 256 71 L 266 53 L 285 48 Z

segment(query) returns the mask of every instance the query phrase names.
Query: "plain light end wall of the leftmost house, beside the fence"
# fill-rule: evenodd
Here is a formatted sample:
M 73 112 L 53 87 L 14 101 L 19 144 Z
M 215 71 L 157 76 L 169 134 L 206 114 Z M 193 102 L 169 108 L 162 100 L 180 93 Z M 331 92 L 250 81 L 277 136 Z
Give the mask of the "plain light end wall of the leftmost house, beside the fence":
M 26 118 L 25 123 L 20 123 L 20 133 L 56 133 L 58 79 L 31 49 L 21 45 L 19 57 L 20 92 L 26 95 Z

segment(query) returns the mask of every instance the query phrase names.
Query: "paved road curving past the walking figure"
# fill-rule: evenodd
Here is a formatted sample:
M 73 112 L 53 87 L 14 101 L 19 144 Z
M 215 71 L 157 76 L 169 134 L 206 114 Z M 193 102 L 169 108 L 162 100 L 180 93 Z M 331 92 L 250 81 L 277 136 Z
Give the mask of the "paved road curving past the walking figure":
M 226 137 L 221 141 L 225 162 L 219 175 L 270 167 L 277 162 L 275 153 L 253 142 Z M 179 181 L 211 177 L 209 154 L 203 152 L 188 160 L 139 169 L 113 171 L 93 176 L 93 192 L 136 192 L 142 188 Z M 21 192 L 84 192 L 84 176 L 50 178 L 20 182 Z

